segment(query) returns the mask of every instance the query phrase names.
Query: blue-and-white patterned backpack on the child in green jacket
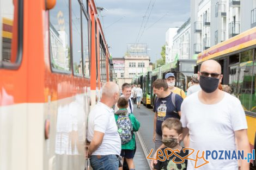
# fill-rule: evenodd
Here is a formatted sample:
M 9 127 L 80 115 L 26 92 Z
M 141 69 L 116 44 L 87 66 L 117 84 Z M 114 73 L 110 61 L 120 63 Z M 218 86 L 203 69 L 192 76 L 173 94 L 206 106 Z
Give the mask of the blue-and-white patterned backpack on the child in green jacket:
M 132 139 L 132 122 L 128 114 L 120 114 L 117 118 L 117 129 L 121 138 L 121 144 L 125 144 Z

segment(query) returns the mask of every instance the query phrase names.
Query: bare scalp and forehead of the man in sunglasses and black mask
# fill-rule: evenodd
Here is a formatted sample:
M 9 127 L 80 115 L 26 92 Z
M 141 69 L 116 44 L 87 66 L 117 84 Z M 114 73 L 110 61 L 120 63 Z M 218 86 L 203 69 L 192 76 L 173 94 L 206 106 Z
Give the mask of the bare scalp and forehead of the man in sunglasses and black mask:
M 221 65 L 215 60 L 207 60 L 201 65 L 200 72 L 221 74 Z

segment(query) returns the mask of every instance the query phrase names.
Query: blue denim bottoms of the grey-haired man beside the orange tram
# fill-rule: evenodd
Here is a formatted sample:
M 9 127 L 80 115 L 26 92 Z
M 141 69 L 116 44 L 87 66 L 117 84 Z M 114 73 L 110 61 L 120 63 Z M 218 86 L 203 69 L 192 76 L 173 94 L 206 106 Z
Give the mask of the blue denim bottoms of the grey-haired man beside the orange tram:
M 94 170 L 118 170 L 118 155 L 92 155 L 90 156 L 90 166 Z

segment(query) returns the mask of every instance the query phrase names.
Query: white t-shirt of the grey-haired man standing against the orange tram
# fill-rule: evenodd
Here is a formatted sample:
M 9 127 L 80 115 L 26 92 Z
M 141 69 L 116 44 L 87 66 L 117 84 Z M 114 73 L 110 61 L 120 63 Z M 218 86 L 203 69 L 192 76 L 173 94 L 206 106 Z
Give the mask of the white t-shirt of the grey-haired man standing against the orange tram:
M 99 148 L 92 155 L 120 155 L 121 139 L 117 131 L 113 109 L 98 102 L 88 118 L 88 141 L 93 140 L 94 130 L 104 133 Z

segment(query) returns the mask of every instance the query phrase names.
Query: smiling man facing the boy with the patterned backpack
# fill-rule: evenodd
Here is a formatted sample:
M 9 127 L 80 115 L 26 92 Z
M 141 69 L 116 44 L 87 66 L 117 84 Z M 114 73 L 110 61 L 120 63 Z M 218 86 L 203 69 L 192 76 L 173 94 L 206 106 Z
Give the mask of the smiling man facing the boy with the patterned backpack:
M 128 100 L 129 106 L 127 107 L 127 111 L 129 112 L 129 114 L 132 114 L 133 113 L 133 104 L 132 104 L 132 100 L 131 100 L 131 93 L 132 93 L 131 84 L 124 83 L 122 85 L 122 93 L 123 93 L 123 95 L 121 95 L 120 97 L 125 97 Z M 117 111 L 118 111 L 118 106 L 116 104 L 115 112 L 117 112 Z

